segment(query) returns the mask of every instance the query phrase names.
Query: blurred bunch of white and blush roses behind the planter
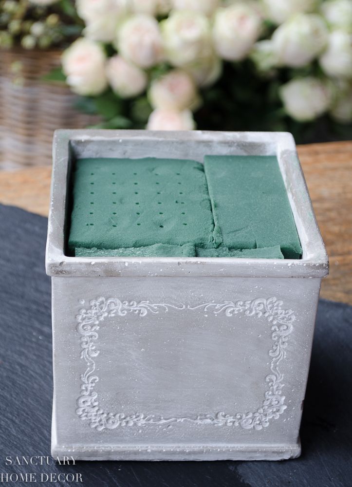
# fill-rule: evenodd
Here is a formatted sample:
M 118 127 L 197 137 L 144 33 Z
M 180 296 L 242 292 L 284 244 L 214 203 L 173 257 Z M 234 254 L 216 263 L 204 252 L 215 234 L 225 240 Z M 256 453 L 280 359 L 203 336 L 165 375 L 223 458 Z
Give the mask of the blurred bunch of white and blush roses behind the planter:
M 102 115 L 100 127 L 351 138 L 352 0 L 75 7 L 84 29 L 63 53 L 63 72 L 80 108 Z

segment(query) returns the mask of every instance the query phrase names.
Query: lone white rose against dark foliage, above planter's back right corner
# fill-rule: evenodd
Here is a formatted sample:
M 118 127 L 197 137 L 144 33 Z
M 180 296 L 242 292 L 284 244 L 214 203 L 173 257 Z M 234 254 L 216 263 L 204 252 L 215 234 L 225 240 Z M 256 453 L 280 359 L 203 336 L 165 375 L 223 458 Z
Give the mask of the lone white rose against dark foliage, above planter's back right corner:
M 327 83 L 314 77 L 298 78 L 280 88 L 285 111 L 296 120 L 314 120 L 329 109 L 332 92 Z

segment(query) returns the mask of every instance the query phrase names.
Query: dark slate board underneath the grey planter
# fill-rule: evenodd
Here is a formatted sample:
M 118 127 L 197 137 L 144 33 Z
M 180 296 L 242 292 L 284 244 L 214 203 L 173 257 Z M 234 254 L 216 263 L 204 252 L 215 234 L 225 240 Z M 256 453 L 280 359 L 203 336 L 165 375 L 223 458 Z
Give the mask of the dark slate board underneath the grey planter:
M 92 487 L 352 485 L 352 307 L 324 300 L 318 308 L 300 458 L 282 462 L 6 465 L 6 456 L 15 460 L 16 456 L 43 455 L 51 461 L 52 364 L 50 279 L 44 271 L 46 225 L 45 218 L 0 205 L 0 475 L 36 473 L 40 482 L 41 473 L 78 472 L 83 485 Z M 77 485 L 58 481 L 44 484 Z M 8 485 L 28 484 L 19 480 Z

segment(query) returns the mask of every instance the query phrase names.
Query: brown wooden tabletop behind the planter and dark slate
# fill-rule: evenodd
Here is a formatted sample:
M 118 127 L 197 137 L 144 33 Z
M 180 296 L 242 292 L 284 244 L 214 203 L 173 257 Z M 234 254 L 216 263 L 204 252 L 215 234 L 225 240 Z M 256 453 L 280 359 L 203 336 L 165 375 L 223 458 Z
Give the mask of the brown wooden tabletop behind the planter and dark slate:
M 352 141 L 298 147 L 330 258 L 321 296 L 352 304 Z M 48 215 L 51 168 L 0 171 L 0 203 Z

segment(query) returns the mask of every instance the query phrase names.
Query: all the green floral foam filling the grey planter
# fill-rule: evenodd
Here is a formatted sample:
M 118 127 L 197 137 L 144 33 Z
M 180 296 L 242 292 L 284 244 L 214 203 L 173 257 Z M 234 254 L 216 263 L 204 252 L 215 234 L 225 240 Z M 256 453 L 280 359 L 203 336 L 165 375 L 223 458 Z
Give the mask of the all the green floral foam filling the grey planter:
M 70 251 L 77 257 L 298 259 L 276 157 L 79 159 Z

